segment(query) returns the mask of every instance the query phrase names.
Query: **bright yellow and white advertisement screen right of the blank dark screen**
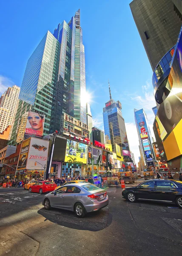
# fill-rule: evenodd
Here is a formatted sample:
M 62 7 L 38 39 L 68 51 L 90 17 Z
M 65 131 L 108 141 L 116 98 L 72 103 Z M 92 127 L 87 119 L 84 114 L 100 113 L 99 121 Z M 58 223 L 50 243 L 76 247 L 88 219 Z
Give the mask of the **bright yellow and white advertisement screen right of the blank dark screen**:
M 87 163 L 87 148 L 88 145 L 74 141 L 67 140 L 65 162 L 74 160 L 76 162 Z

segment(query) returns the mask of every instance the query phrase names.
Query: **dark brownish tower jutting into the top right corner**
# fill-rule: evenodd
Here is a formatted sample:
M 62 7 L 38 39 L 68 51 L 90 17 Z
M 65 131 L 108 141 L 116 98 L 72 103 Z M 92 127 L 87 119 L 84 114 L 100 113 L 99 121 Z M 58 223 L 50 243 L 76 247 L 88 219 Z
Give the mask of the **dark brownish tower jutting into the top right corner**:
M 130 8 L 154 70 L 176 44 L 182 24 L 181 0 L 133 0 Z

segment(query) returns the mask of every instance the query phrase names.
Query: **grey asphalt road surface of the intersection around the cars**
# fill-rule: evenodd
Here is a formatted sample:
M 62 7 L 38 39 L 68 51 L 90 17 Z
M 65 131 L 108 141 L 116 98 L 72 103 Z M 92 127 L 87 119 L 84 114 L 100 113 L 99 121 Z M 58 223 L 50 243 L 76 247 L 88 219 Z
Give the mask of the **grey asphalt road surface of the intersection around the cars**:
M 182 210 L 121 197 L 107 189 L 108 207 L 77 218 L 46 211 L 44 195 L 0 188 L 0 256 L 171 256 L 182 254 Z

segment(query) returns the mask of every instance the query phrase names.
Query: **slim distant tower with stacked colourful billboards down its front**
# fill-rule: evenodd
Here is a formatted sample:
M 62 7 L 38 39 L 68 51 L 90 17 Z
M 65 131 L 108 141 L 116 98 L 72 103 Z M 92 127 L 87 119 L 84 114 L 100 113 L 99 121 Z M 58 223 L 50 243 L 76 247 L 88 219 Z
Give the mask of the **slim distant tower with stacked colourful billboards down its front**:
M 134 109 L 135 123 L 139 137 L 140 155 L 147 166 L 154 166 L 154 150 L 148 119 L 143 109 Z

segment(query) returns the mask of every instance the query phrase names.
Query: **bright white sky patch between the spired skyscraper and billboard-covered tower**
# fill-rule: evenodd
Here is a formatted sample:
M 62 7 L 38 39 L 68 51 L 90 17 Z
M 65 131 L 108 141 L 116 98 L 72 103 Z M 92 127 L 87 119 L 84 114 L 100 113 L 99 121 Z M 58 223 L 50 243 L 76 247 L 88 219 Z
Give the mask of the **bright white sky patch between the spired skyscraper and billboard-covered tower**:
M 126 126 L 126 133 L 128 137 L 128 142 L 130 145 L 130 150 L 134 153 L 135 162 L 138 166 L 139 162 L 139 138 L 137 133 L 137 128 L 135 123 L 125 123 Z

